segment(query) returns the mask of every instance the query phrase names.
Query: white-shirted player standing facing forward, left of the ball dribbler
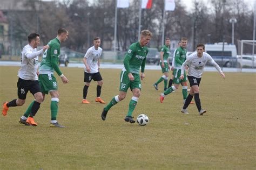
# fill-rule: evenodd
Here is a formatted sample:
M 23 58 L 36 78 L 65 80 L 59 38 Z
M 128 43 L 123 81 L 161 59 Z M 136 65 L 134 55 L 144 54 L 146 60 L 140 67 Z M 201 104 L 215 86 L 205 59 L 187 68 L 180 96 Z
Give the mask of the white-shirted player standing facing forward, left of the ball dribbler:
M 90 83 L 92 80 L 97 81 L 97 97 L 95 99 L 95 102 L 99 103 L 105 103 L 100 98 L 100 93 L 102 91 L 102 84 L 103 79 L 102 76 L 99 73 L 99 66 L 100 66 L 100 56 L 102 56 L 102 48 L 99 47 L 100 45 L 100 38 L 95 37 L 93 39 L 93 46 L 90 47 L 87 52 L 84 55 L 84 89 L 83 89 L 83 101 L 82 103 L 90 104 L 88 100 L 86 100 L 87 91 L 90 86 Z

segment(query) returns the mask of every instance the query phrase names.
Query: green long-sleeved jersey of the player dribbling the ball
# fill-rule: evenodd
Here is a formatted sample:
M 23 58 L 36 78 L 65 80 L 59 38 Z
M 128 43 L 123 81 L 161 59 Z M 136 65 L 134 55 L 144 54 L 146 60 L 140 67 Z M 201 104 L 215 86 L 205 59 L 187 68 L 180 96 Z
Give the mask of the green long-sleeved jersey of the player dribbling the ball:
M 144 72 L 148 52 L 149 49 L 146 46 L 142 47 L 139 42 L 134 42 L 125 54 L 123 70 L 139 74 L 140 66 L 142 66 L 142 72 Z

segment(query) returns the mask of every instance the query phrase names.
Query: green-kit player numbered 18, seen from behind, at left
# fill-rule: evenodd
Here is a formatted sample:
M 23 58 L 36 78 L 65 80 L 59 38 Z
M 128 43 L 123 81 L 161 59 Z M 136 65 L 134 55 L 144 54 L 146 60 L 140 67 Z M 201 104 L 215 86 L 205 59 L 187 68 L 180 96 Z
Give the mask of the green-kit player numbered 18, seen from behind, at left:
M 59 103 L 59 93 L 58 93 L 58 84 L 55 76 L 53 75 L 56 72 L 63 83 L 68 83 L 69 80 L 62 74 L 59 69 L 58 61 L 60 54 L 60 42 L 64 42 L 68 39 L 69 32 L 66 29 L 59 29 L 58 35 L 55 39 L 52 39 L 48 42 L 49 49 L 43 54 L 41 65 L 39 67 L 39 84 L 43 93 L 43 98 L 45 94 L 50 93 L 51 95 L 51 123 L 50 126 L 65 128 L 65 126 L 60 125 L 57 122 L 58 114 L 58 103 Z M 34 101 L 33 101 L 34 102 Z M 26 110 L 24 117 L 28 117 L 28 113 L 31 110 L 33 102 L 29 105 L 29 108 Z

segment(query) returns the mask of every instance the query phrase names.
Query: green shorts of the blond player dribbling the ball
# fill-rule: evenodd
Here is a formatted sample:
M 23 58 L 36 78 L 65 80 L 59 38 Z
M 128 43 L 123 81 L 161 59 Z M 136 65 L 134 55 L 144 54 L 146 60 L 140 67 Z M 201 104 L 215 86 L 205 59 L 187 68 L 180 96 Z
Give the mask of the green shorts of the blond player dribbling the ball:
M 128 77 L 128 73 L 126 71 L 121 72 L 120 75 L 120 86 L 119 86 L 119 91 L 125 91 L 127 92 L 127 90 L 130 89 L 142 89 L 142 84 L 140 83 L 140 76 L 139 74 L 135 74 L 132 73 L 134 80 L 130 81 L 129 77 Z

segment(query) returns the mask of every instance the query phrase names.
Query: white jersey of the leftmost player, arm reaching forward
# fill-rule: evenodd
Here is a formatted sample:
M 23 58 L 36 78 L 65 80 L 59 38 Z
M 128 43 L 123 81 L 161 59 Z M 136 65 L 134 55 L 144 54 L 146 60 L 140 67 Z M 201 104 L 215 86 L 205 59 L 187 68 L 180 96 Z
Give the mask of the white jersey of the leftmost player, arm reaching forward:
M 36 74 L 38 68 L 38 55 L 42 54 L 43 49 L 37 51 L 29 44 L 24 46 L 21 52 L 21 68 L 18 76 L 23 80 L 38 80 Z

